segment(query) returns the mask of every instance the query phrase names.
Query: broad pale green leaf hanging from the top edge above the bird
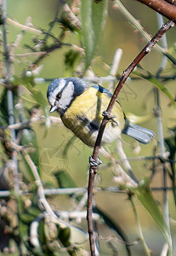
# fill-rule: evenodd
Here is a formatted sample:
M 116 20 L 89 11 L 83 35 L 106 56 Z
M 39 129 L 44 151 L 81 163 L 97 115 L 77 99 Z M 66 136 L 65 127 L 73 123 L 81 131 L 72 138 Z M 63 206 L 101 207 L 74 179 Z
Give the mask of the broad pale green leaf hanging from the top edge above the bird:
M 82 39 L 85 46 L 85 70 L 90 66 L 105 28 L 107 0 L 94 3 L 82 0 Z

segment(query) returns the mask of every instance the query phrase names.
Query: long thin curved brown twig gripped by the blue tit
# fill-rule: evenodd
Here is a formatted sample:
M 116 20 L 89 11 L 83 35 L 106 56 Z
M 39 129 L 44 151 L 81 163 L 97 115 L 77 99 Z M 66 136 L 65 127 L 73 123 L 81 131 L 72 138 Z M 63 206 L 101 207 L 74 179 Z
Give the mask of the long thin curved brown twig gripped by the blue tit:
M 145 48 L 142 49 L 139 53 L 139 55 L 133 60 L 133 62 L 128 66 L 128 68 L 123 72 L 122 78 L 120 79 L 118 85 L 116 86 L 116 90 L 114 91 L 113 96 L 111 97 L 111 102 L 109 103 L 108 108 L 106 109 L 104 119 L 101 122 L 101 125 L 99 127 L 99 134 L 96 140 L 96 143 L 94 145 L 94 152 L 93 152 L 93 159 L 95 161 L 98 160 L 98 154 L 99 154 L 99 148 L 101 144 L 101 139 L 103 137 L 103 133 L 105 131 L 105 125 L 108 123 L 109 119 L 111 118 L 111 110 L 116 102 L 116 98 L 122 89 L 123 84 L 128 79 L 128 76 L 130 73 L 132 73 L 134 67 L 136 67 L 141 61 L 145 55 L 150 53 L 150 50 L 153 48 L 153 46 L 162 38 L 163 34 L 167 32 L 167 30 L 174 26 L 174 23 L 172 20 L 168 20 L 162 28 L 156 32 L 156 35 L 151 38 L 150 42 L 146 44 Z M 94 246 L 94 226 L 93 226 L 93 220 L 92 220 L 92 212 L 93 212 L 93 188 L 94 188 L 94 177 L 97 173 L 97 166 L 90 166 L 89 168 L 89 180 L 88 180 L 88 234 L 89 234 L 89 242 L 90 242 L 90 251 L 91 255 L 95 255 L 95 246 Z

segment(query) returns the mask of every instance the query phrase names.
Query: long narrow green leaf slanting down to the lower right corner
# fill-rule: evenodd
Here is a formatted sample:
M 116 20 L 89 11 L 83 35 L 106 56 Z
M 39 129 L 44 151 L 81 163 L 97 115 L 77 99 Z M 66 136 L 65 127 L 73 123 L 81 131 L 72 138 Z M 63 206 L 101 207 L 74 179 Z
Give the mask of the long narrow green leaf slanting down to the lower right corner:
M 139 201 L 142 203 L 145 209 L 150 213 L 150 216 L 153 218 L 153 220 L 156 222 L 159 229 L 162 231 L 162 234 L 167 241 L 169 251 L 171 252 L 172 251 L 171 234 L 163 218 L 162 211 L 156 204 L 156 201 L 153 198 L 153 195 L 151 194 L 149 183 L 150 183 L 149 179 L 142 180 L 142 182 L 139 183 L 138 189 L 135 190 L 135 193 Z

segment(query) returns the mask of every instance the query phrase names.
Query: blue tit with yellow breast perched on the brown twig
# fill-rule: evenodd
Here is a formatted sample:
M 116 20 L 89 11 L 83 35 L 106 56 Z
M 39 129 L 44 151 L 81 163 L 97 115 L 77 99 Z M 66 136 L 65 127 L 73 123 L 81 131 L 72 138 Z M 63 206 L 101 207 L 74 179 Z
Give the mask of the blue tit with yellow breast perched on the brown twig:
M 84 79 L 54 79 L 48 86 L 50 113 L 60 113 L 64 125 L 69 128 L 83 143 L 94 147 L 102 113 L 107 108 L 111 92 L 99 84 L 88 83 Z M 113 118 L 105 126 L 102 145 L 112 143 L 121 133 L 133 137 L 139 143 L 150 143 L 155 136 L 153 131 L 129 122 L 116 101 L 112 108 Z

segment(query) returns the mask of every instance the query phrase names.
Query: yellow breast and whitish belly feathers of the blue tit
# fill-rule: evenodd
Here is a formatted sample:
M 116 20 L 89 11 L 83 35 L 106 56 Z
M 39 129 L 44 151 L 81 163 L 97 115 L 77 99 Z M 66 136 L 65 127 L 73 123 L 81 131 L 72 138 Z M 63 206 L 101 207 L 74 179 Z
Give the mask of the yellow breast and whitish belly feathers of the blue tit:
M 61 119 L 65 126 L 83 143 L 94 147 L 99 126 L 103 119 L 102 113 L 106 110 L 110 99 L 105 93 L 91 87 L 82 95 L 77 96 Z M 116 102 L 111 115 L 115 117 L 105 126 L 102 144 L 111 143 L 117 137 L 120 137 L 125 125 L 124 114 L 118 102 Z

